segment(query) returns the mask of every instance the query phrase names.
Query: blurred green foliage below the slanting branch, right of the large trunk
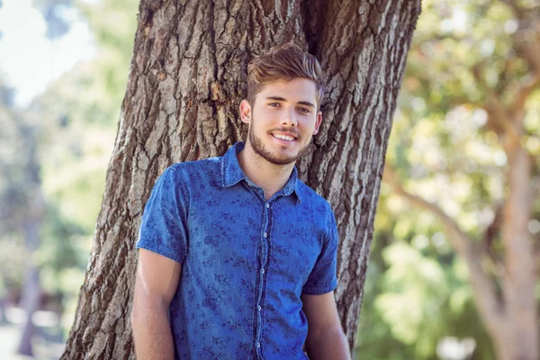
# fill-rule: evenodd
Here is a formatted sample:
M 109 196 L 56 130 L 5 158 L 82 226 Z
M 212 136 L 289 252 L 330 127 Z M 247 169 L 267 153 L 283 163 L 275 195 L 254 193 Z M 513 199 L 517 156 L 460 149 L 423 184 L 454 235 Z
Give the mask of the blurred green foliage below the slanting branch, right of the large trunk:
M 356 358 L 436 360 L 437 343 L 455 337 L 476 340 L 475 359 L 493 359 L 467 268 L 437 221 L 425 215 L 383 186 Z

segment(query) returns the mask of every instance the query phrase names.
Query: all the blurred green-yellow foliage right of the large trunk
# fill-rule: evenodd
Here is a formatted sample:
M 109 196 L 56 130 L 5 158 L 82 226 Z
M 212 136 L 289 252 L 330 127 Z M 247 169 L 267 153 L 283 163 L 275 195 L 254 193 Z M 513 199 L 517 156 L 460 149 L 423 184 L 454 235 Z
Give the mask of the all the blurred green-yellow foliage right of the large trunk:
M 493 88 L 508 106 L 506 89 L 530 70 L 516 50 L 514 15 L 499 1 L 423 2 L 387 152 L 403 187 L 437 203 L 471 238 L 482 238 L 507 192 L 507 159 L 483 106 Z M 536 91 L 522 141 L 536 157 L 539 104 Z M 467 267 L 435 216 L 383 184 L 374 228 L 358 358 L 436 359 L 450 336 L 474 338 L 475 359 L 495 358 Z M 498 241 L 492 248 L 503 251 Z

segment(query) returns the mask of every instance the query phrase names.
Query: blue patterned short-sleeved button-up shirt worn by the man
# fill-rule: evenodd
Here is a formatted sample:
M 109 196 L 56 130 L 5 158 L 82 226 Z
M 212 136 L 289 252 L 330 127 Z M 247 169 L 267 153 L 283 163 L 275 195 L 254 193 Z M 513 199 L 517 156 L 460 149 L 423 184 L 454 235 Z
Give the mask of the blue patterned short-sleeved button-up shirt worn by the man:
M 137 248 L 182 264 L 176 359 L 306 359 L 301 295 L 337 285 L 329 202 L 296 168 L 266 201 L 238 165 L 242 148 L 166 168 L 144 210 Z

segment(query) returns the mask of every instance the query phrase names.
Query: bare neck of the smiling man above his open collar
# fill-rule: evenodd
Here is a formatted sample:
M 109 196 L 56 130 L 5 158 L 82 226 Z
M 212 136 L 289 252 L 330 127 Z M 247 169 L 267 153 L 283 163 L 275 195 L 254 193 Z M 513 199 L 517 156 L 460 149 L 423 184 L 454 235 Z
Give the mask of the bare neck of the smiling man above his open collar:
M 294 167 L 294 163 L 275 165 L 268 162 L 253 151 L 248 142 L 245 148 L 238 153 L 238 164 L 251 182 L 263 188 L 266 200 L 283 189 L 291 177 Z

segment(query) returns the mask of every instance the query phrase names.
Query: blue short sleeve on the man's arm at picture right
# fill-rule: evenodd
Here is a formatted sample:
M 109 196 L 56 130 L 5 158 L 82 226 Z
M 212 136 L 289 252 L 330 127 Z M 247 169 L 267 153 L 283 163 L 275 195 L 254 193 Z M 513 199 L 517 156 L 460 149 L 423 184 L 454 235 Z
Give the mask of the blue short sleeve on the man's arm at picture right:
M 332 211 L 329 212 L 326 236 L 320 256 L 311 270 L 308 281 L 302 288 L 302 293 L 308 295 L 320 295 L 329 293 L 338 286 L 338 226 Z

